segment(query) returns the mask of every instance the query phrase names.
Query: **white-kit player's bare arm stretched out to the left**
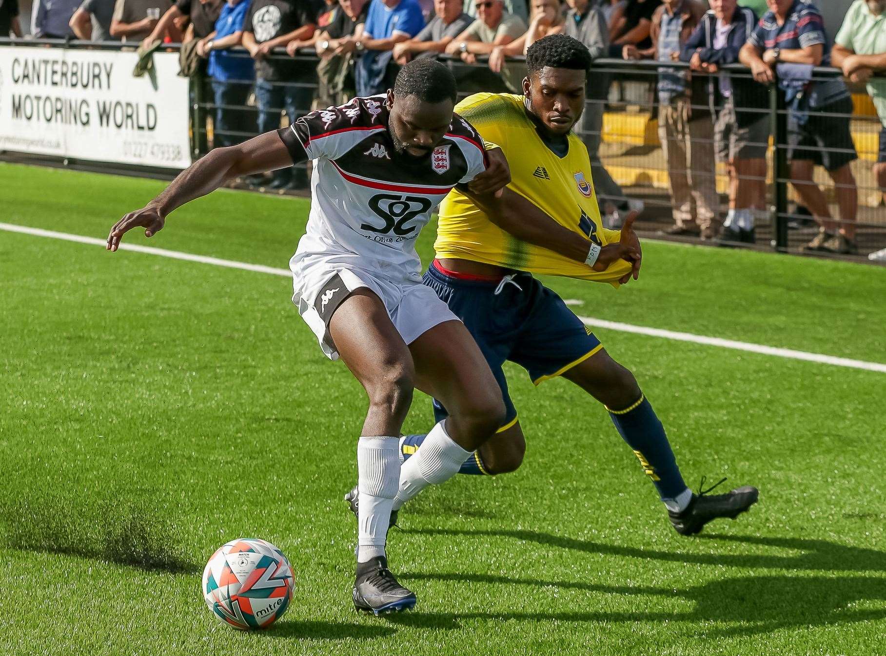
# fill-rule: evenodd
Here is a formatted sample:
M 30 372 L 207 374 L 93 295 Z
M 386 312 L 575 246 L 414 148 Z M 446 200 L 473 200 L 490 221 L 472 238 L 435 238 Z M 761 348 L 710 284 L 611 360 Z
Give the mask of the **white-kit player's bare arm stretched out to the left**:
M 132 228 L 144 228 L 146 237 L 157 234 L 163 228 L 169 212 L 194 198 L 206 196 L 239 175 L 273 171 L 297 163 L 292 161 L 289 150 L 276 131 L 258 135 L 237 146 L 210 150 L 205 157 L 178 174 L 148 205 L 129 212 L 117 221 L 108 235 L 106 248 L 116 251 L 123 235 Z

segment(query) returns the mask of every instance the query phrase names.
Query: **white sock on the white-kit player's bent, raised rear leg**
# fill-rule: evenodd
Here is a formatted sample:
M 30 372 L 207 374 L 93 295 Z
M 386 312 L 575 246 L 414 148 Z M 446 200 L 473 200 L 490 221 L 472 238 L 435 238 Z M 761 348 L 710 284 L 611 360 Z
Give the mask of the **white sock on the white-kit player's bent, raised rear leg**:
M 465 451 L 447 435 L 443 421 L 440 421 L 424 438 L 415 453 L 400 467 L 400 491 L 393 501 L 393 509 L 400 510 L 428 485 L 439 485 L 448 481 L 468 459 L 470 451 Z

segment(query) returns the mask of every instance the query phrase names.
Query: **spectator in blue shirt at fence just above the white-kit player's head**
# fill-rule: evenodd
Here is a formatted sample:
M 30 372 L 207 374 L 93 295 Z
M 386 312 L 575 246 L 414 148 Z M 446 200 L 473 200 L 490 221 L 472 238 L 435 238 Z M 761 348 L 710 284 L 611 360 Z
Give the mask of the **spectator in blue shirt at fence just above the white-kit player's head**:
M 416 0 L 372 0 L 363 34 L 356 42 L 362 55 L 354 71 L 357 96 L 375 96 L 391 86 L 388 65 L 394 45 L 422 31 L 424 17 Z

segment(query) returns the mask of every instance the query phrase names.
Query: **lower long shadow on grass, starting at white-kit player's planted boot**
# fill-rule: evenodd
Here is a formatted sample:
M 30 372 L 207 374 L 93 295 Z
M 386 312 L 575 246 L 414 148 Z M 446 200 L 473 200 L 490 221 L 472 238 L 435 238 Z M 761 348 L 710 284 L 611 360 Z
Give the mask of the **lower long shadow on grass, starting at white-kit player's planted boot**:
M 466 613 L 404 614 L 392 617 L 395 624 L 422 629 L 459 629 L 467 619 L 495 621 L 572 622 L 703 622 L 707 636 L 751 636 L 777 629 L 849 624 L 886 619 L 886 608 L 852 610 L 859 601 L 886 601 L 886 579 L 869 576 L 742 576 L 727 578 L 685 590 L 649 586 L 618 586 L 569 581 L 540 581 L 497 575 L 404 574 L 402 581 L 434 580 L 455 583 L 491 583 L 587 590 L 613 595 L 680 597 L 694 604 L 685 613 Z M 710 622 L 734 626 L 711 628 Z

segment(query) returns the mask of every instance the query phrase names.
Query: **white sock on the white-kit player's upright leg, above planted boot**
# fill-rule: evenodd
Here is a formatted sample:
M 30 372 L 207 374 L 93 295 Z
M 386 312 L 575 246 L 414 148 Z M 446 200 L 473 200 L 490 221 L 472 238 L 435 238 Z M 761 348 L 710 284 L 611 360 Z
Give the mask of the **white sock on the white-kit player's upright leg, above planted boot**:
M 391 506 L 400 483 L 400 440 L 361 437 L 357 442 L 357 562 L 385 555 Z

